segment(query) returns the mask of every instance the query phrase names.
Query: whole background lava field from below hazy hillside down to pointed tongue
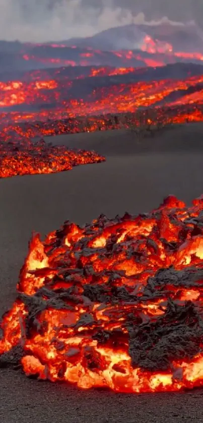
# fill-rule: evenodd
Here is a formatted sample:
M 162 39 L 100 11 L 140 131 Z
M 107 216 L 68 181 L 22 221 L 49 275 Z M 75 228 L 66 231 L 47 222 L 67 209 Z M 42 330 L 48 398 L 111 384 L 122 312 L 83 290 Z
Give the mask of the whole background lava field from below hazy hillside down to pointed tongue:
M 55 79 L 46 80 L 46 73 Z M 202 82 L 202 66 L 191 64 L 155 69 L 60 68 L 24 73 L 22 81 L 2 81 L 0 177 L 51 173 L 104 160 L 95 152 L 71 151 L 42 140 L 33 143 L 35 137 L 138 126 L 150 131 L 201 121 Z

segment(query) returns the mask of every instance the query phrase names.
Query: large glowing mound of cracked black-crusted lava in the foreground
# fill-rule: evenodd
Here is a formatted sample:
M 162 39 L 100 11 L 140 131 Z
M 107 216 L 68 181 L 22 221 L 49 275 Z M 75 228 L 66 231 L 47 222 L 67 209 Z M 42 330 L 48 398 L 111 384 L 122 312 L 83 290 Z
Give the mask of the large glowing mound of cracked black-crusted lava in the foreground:
M 202 258 L 203 196 L 34 234 L 0 366 L 120 392 L 201 386 Z

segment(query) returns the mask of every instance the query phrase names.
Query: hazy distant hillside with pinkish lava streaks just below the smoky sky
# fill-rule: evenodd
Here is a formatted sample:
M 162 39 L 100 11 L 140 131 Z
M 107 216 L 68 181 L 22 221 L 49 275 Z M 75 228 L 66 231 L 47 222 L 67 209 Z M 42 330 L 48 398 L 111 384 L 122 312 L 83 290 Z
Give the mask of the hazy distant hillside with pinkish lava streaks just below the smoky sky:
M 149 28 L 148 28 L 149 29 Z M 92 46 L 64 43 L 20 43 L 0 41 L 1 72 L 12 65 L 18 69 L 43 69 L 58 66 L 164 66 L 176 62 L 201 62 L 202 52 L 176 51 L 171 43 L 160 42 L 146 35 L 139 49 L 106 50 Z

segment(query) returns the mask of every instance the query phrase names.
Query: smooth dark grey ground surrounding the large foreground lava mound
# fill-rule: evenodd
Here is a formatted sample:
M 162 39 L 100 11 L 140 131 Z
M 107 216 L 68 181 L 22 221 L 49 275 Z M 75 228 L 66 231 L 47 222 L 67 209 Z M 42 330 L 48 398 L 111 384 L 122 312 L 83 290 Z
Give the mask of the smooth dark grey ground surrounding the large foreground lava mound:
M 50 141 L 50 139 L 48 139 Z M 101 164 L 71 171 L 0 180 L 0 312 L 15 298 L 18 272 L 32 230 L 42 234 L 64 220 L 85 223 L 100 213 L 149 211 L 174 194 L 189 203 L 203 193 L 203 126 L 163 132 L 143 146 L 129 132 L 54 137 L 53 143 L 95 149 Z M 73 386 L 27 379 L 0 371 L 0 421 L 37 423 L 199 422 L 203 390 L 120 395 L 79 391 Z

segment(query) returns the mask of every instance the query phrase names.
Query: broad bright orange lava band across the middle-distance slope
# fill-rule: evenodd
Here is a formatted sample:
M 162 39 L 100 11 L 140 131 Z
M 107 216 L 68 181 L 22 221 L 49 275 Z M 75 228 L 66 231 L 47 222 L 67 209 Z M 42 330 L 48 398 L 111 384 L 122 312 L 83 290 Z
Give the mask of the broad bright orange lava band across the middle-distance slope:
M 129 71 L 129 72 L 127 72 Z M 181 79 L 160 79 L 135 83 L 115 83 L 114 80 L 102 80 L 104 86 L 92 85 L 94 76 L 101 76 L 106 69 L 92 69 L 90 77 L 82 80 L 60 79 L 36 80 L 31 82 L 0 82 L 0 109 L 12 107 L 21 112 L 4 112 L 2 123 L 6 119 L 22 122 L 23 120 L 58 119 L 63 117 L 98 115 L 105 113 L 134 112 L 142 107 L 162 104 L 203 103 L 203 76 L 190 76 Z M 136 72 L 134 69 L 108 70 L 108 77 Z M 107 77 L 107 78 L 108 78 Z M 90 81 L 90 82 L 89 82 Z M 106 84 L 106 85 L 105 85 Z M 190 90 L 188 94 L 188 90 Z M 81 97 L 81 92 L 83 97 Z M 193 95 L 194 93 L 194 95 Z M 192 95 L 191 95 L 192 94 Z M 171 95 L 175 100 L 171 101 Z M 177 99 L 178 96 L 178 99 Z M 22 108 L 23 107 L 23 108 Z M 8 109 L 7 109 L 8 110 Z M 26 110 L 26 113 L 25 111 Z M 27 112 L 29 110 L 29 112 Z M 14 116 L 14 117 L 13 117 Z

